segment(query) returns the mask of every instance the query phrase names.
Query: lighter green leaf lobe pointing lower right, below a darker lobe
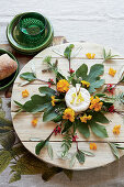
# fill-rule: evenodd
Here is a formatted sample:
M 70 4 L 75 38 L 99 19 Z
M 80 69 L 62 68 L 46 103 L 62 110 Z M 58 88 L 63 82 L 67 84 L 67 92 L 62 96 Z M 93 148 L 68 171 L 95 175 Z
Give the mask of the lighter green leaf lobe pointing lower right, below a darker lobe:
M 106 129 L 105 127 L 103 125 L 100 125 L 93 121 L 89 121 L 88 122 L 90 124 L 90 128 L 92 130 L 92 132 L 99 136 L 99 138 L 108 138 L 108 132 L 106 132 Z

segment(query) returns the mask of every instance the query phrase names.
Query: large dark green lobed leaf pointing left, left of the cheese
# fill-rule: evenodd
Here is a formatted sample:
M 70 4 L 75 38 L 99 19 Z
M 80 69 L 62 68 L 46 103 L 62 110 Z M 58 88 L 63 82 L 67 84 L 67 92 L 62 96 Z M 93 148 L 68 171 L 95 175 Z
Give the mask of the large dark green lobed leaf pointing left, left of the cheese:
M 27 112 L 40 112 L 50 106 L 50 98 L 46 96 L 34 95 L 31 97 L 31 100 L 23 105 L 23 110 Z

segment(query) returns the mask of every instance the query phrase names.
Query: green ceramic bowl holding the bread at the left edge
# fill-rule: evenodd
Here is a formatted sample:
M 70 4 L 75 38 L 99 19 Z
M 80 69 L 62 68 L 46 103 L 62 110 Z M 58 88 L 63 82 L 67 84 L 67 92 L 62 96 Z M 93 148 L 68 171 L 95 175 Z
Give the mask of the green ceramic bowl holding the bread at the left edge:
M 0 91 L 5 89 L 7 87 L 9 87 L 13 81 L 14 79 L 16 78 L 18 76 L 18 73 L 19 73 L 19 62 L 18 59 L 12 55 L 12 53 L 3 50 L 3 48 L 0 48 L 0 56 L 3 55 L 3 54 L 8 54 L 12 59 L 14 59 L 18 64 L 18 69 L 9 77 L 0 80 Z

